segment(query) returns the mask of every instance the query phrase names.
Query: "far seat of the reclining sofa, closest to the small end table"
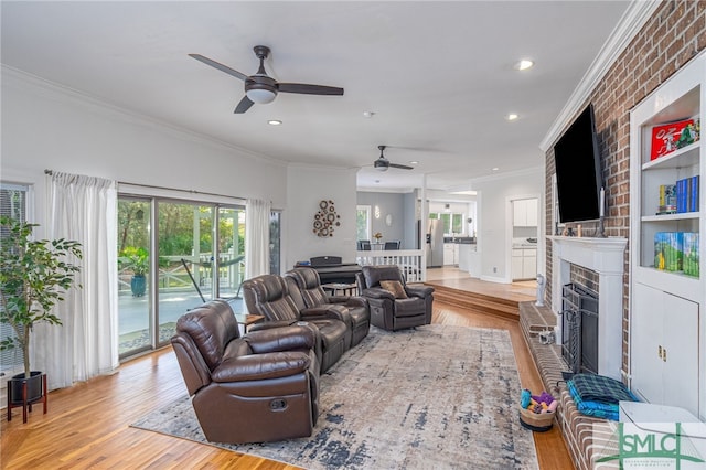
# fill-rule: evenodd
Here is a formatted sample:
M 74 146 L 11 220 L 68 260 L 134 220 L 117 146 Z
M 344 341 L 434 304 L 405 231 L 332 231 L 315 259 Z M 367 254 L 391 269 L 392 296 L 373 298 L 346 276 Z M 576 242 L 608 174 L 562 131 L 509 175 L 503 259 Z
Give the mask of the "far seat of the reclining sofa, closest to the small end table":
M 371 327 L 371 309 L 364 297 L 356 296 L 329 296 L 321 287 L 319 273 L 313 268 L 295 268 L 285 274 L 297 282 L 301 300 L 308 308 L 321 307 L 325 305 L 343 306 L 349 310 L 352 320 L 353 335 L 351 348 L 363 341 L 367 337 Z M 290 293 L 297 302 L 296 292 L 290 289 Z

